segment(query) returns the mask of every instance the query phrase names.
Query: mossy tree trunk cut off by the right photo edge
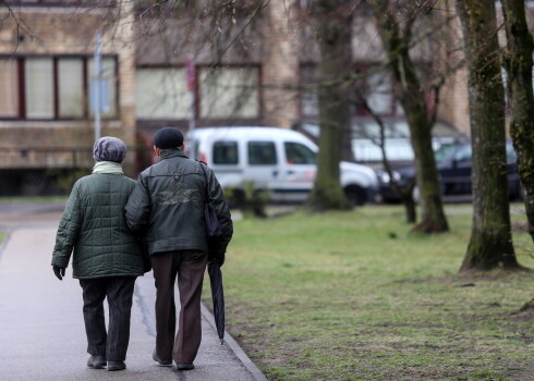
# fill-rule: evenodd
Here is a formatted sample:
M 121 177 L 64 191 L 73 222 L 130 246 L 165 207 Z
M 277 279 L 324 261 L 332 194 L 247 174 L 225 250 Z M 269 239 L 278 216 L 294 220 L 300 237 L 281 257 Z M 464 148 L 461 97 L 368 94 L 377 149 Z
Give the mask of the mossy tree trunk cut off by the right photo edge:
M 534 241 L 534 98 L 532 91 L 532 35 L 525 19 L 524 0 L 501 0 L 507 36 L 505 67 L 511 109 L 510 135 L 518 153 L 524 189 L 529 233 Z

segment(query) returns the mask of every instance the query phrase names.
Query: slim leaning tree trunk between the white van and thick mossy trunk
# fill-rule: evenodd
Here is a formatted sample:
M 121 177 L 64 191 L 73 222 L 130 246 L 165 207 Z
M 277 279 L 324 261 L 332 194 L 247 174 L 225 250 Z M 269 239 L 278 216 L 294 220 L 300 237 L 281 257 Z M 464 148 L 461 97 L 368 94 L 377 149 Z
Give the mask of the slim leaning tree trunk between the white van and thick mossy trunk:
M 410 126 L 410 139 L 415 157 L 416 183 L 421 192 L 421 222 L 414 231 L 447 232 L 436 159 L 432 148 L 432 121 L 427 114 L 425 93 L 409 54 L 411 35 L 401 36 L 399 22 L 389 1 L 375 0 L 375 17 L 384 48 L 391 61 L 396 94 Z

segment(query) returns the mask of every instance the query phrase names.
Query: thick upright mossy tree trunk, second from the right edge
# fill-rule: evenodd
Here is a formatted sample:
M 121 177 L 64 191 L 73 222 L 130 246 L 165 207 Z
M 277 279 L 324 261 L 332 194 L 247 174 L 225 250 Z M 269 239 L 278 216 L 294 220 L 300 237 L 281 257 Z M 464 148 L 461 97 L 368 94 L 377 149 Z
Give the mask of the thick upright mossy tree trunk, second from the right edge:
M 505 95 L 495 2 L 457 0 L 469 70 L 473 226 L 460 271 L 518 268 L 506 171 Z

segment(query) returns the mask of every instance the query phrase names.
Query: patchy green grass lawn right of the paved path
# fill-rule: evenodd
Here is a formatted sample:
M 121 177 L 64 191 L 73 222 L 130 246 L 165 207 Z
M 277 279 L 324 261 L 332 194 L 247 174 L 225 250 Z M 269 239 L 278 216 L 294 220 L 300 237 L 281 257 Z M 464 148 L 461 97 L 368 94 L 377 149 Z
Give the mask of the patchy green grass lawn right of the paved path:
M 269 380 L 534 380 L 534 312 L 512 314 L 534 272 L 458 274 L 471 209 L 447 213 L 436 236 L 409 234 L 387 206 L 236 221 L 227 329 Z

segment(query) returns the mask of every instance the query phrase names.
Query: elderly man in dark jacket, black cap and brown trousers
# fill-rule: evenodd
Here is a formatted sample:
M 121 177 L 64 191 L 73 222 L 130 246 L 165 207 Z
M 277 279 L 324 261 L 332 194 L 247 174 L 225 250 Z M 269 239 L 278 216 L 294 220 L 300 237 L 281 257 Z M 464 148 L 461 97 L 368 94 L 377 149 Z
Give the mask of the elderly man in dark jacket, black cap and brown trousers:
M 209 258 L 219 265 L 233 233 L 228 204 L 214 172 L 183 153 L 183 135 L 165 127 L 154 135 L 159 162 L 139 174 L 126 205 L 126 221 L 146 234 L 156 280 L 156 349 L 153 358 L 178 370 L 193 369 L 201 345 L 201 293 Z M 214 207 L 222 238 L 208 248 L 204 208 Z M 179 331 L 175 332 L 174 281 L 180 291 Z

